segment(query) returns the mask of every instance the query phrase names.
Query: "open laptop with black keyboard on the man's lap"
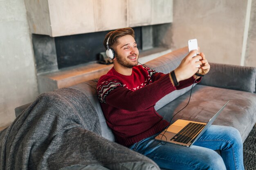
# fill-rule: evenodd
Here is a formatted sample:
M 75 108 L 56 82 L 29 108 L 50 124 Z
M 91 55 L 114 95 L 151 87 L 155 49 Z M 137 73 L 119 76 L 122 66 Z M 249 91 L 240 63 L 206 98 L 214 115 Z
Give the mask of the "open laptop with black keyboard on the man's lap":
M 229 101 L 227 101 L 228 103 Z M 218 112 L 208 121 L 202 123 L 197 121 L 188 121 L 178 119 L 171 126 L 161 132 L 156 140 L 168 142 L 171 144 L 190 147 L 194 142 L 211 126 L 220 112 L 227 106 L 227 103 L 218 110 Z M 161 139 L 162 138 L 162 139 Z

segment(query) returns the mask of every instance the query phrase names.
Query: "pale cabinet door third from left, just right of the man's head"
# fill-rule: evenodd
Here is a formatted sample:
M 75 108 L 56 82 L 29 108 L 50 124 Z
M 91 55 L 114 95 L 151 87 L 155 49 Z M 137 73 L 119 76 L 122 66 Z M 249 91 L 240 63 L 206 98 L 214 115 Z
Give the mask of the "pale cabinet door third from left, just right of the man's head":
M 129 26 L 150 25 L 152 20 L 151 0 L 128 0 Z

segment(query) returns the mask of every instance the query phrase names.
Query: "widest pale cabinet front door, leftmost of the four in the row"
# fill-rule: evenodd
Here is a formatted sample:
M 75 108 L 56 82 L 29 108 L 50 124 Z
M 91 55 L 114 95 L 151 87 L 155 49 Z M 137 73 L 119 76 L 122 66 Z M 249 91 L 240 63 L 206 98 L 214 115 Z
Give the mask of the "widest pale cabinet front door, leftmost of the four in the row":
M 94 32 L 93 0 L 48 0 L 52 36 Z

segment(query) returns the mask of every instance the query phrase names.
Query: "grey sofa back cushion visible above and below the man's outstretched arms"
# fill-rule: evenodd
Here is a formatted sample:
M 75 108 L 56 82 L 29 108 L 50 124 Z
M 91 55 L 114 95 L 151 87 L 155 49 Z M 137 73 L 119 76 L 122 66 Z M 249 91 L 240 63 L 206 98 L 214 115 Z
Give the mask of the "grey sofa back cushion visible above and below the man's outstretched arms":
M 170 73 L 170 71 L 174 70 L 180 65 L 180 62 L 184 57 L 186 57 L 186 55 L 188 55 L 188 53 L 189 53 L 189 49 L 187 47 L 184 47 L 182 49 L 172 51 L 171 53 L 168 53 L 154 60 L 146 62 L 145 65 L 157 72 L 161 72 L 165 74 Z M 194 84 L 194 86 L 195 85 L 196 84 Z M 163 106 L 170 103 L 177 97 L 186 93 L 191 89 L 191 86 L 183 88 L 181 90 L 173 91 L 172 93 L 169 93 L 168 95 L 164 96 L 162 99 L 160 99 L 156 103 L 155 110 L 162 108 Z

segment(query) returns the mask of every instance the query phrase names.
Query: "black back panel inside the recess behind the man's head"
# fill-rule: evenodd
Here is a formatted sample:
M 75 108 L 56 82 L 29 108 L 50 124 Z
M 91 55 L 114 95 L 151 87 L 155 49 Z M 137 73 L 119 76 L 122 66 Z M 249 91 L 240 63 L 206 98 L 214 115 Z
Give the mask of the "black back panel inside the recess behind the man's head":
M 141 50 L 141 27 L 133 28 L 135 41 Z M 106 51 L 103 46 L 105 35 L 109 31 L 85 33 L 55 38 L 58 68 L 75 66 L 99 60 L 99 53 Z

